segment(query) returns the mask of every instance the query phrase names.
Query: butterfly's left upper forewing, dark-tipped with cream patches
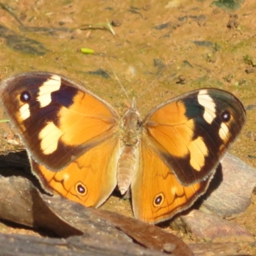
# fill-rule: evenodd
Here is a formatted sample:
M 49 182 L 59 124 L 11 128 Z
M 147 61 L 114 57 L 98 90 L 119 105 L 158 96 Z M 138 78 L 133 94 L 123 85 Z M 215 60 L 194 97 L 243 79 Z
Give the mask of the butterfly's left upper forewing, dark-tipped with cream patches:
M 1 83 L 3 106 L 36 163 L 58 171 L 118 132 L 107 102 L 66 77 L 46 72 Z

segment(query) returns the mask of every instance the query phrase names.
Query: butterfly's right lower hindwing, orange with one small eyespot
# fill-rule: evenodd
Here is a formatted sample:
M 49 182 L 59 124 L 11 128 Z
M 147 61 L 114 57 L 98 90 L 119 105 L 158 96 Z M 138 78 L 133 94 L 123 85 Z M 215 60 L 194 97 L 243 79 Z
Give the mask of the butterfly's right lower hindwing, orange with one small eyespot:
M 140 164 L 131 184 L 132 208 L 139 220 L 156 224 L 191 207 L 205 193 L 210 179 L 182 186 L 150 140 L 141 141 Z

